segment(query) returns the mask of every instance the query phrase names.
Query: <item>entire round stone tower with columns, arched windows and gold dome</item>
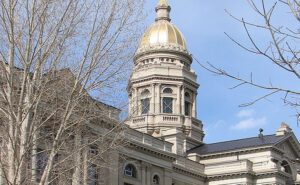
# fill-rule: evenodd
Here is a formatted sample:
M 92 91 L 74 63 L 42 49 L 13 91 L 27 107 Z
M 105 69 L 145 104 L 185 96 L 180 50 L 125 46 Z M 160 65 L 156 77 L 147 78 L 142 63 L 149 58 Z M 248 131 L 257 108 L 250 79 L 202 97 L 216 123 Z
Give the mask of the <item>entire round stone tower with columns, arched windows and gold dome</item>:
M 182 33 L 170 21 L 171 7 L 159 0 L 155 22 L 141 38 L 128 83 L 131 128 L 173 143 L 173 152 L 202 143 L 197 119 L 197 75 Z

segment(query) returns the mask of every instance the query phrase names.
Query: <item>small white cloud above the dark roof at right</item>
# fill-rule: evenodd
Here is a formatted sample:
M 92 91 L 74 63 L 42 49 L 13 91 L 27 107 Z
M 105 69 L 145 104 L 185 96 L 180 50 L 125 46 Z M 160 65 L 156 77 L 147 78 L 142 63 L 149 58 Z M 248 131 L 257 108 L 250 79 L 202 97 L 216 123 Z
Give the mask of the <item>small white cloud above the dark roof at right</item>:
M 247 130 L 252 128 L 259 128 L 267 124 L 267 119 L 265 117 L 262 118 L 248 118 L 245 120 L 241 120 L 236 125 L 233 125 L 231 129 L 234 130 Z

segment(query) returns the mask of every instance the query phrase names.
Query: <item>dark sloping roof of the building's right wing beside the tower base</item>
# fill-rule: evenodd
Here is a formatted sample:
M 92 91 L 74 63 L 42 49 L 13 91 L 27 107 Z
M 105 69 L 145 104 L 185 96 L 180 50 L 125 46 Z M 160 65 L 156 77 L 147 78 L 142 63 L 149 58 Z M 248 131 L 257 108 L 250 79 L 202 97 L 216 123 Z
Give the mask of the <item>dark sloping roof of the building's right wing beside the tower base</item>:
M 212 144 L 202 144 L 198 147 L 187 151 L 188 154 L 197 153 L 199 155 L 207 155 L 214 153 L 222 153 L 239 149 L 247 149 L 261 146 L 273 146 L 287 136 L 265 135 L 262 138 L 252 137 L 239 140 L 225 141 Z

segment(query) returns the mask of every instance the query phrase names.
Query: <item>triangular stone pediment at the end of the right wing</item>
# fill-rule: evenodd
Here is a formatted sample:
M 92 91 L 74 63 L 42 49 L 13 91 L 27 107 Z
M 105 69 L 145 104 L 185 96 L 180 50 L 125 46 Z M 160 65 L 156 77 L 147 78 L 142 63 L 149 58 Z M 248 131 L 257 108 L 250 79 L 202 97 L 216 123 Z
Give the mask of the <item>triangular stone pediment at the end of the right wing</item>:
M 284 140 L 279 141 L 275 144 L 275 146 L 282 150 L 284 154 L 291 159 L 300 158 L 300 144 L 294 134 L 291 134 Z

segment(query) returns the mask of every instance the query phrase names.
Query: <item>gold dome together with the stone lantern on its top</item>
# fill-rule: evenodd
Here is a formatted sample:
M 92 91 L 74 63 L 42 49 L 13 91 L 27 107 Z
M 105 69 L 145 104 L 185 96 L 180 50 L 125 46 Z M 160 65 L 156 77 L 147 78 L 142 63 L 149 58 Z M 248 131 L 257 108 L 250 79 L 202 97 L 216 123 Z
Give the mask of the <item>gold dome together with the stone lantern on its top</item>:
M 192 60 L 183 34 L 170 22 L 171 7 L 167 0 L 160 0 L 155 10 L 155 22 L 144 33 L 135 58 L 153 51 L 169 51 L 180 53 Z

